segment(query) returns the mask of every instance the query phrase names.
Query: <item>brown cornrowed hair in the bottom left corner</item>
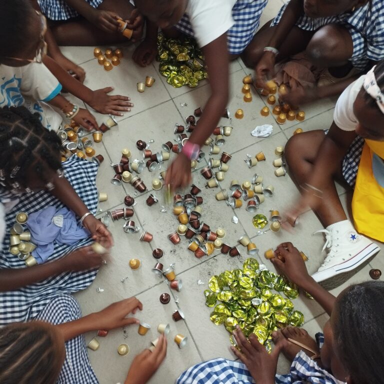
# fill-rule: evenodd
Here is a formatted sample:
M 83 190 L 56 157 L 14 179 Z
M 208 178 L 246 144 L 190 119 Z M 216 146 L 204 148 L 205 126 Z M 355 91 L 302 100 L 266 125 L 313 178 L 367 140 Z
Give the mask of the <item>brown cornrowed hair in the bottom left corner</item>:
M 64 360 L 64 343 L 62 347 L 57 344 L 48 323 L 13 323 L 1 328 L 1 384 L 53 384 Z

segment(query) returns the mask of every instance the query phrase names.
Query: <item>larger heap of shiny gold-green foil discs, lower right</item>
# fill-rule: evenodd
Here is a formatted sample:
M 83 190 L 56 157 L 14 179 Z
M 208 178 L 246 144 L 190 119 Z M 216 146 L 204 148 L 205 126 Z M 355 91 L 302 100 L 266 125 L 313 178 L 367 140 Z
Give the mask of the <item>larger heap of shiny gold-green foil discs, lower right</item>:
M 304 315 L 294 310 L 290 299 L 298 296 L 297 287 L 276 275 L 256 259 L 247 258 L 242 269 L 225 270 L 209 279 L 204 290 L 205 303 L 214 306 L 210 320 L 224 324 L 232 332 L 238 324 L 246 337 L 254 333 L 268 352 L 271 333 L 286 325 L 301 326 Z M 282 292 L 285 298 L 274 291 Z M 216 305 L 217 300 L 221 301 Z M 233 345 L 235 340 L 230 337 Z

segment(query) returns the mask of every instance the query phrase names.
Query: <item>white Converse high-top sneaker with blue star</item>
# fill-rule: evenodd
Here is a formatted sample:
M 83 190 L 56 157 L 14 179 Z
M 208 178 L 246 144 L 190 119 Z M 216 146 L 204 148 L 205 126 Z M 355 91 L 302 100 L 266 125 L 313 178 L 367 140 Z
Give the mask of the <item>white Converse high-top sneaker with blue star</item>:
M 312 274 L 317 282 L 349 272 L 380 251 L 375 243 L 358 234 L 349 220 L 336 222 L 314 233 L 318 232 L 325 233 L 322 250 L 328 249 L 324 262 Z

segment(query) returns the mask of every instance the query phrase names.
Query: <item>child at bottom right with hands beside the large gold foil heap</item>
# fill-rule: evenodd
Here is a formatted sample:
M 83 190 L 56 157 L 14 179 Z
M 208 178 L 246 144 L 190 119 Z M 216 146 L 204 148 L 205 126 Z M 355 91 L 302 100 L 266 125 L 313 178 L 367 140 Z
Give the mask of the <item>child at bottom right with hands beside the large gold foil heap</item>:
M 234 337 L 240 359 L 217 358 L 190 367 L 177 384 L 371 384 L 382 382 L 384 335 L 381 322 L 384 282 L 369 281 L 344 289 L 335 298 L 308 275 L 304 261 L 291 243 L 280 244 L 279 258 L 271 261 L 277 269 L 324 308 L 330 318 L 323 333 L 313 340 L 304 329 L 282 328 L 272 333 L 275 347 L 268 354 L 255 334 L 249 341 L 237 327 Z M 279 352 L 292 361 L 289 373 L 276 374 Z

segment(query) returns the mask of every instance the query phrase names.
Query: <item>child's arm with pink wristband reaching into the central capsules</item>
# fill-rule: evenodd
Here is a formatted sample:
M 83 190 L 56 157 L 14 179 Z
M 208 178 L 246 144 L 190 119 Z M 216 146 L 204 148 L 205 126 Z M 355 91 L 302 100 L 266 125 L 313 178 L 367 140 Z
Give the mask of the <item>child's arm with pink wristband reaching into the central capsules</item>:
M 207 65 L 211 94 L 204 106 L 196 128 L 189 137 L 192 143 L 200 147 L 213 132 L 228 101 L 229 56 L 226 45 L 226 33 L 202 48 Z M 220 57 L 218 60 L 217 57 Z M 165 184 L 170 184 L 172 190 L 187 185 L 190 182 L 190 160 L 179 153 L 176 160 L 167 169 Z

